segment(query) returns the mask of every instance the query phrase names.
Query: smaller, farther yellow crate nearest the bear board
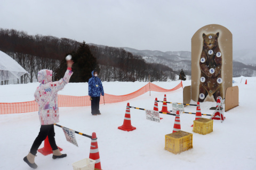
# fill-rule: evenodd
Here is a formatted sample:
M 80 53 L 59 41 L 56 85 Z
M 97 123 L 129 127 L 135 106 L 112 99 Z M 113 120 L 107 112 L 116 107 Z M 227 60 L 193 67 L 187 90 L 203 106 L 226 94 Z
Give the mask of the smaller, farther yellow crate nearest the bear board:
M 200 119 L 194 120 L 193 132 L 205 135 L 205 134 L 211 133 L 212 131 L 213 131 L 212 119 L 200 118 Z

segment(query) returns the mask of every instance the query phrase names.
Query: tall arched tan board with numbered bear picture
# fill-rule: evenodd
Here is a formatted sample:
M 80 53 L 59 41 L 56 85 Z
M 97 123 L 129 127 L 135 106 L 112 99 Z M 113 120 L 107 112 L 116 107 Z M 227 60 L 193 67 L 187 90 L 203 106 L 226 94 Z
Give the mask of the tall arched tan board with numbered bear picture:
M 233 40 L 231 32 L 220 25 L 207 25 L 191 38 L 191 99 L 224 99 L 232 87 Z

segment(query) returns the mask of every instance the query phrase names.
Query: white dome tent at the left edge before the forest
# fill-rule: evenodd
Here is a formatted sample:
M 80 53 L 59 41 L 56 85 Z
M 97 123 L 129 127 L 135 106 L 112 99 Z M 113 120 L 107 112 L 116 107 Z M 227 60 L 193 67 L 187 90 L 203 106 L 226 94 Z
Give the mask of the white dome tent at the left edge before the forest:
M 18 62 L 13 60 L 11 56 L 0 51 L 0 82 L 20 78 L 28 73 Z

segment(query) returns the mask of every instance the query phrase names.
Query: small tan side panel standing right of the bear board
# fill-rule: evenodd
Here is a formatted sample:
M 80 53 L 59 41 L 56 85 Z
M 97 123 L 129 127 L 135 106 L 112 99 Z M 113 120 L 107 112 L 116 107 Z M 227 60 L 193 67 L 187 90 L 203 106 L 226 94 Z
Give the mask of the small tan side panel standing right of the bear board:
M 239 103 L 239 90 L 238 86 L 228 87 L 226 91 L 226 99 L 225 99 L 225 111 L 233 109 L 238 106 Z

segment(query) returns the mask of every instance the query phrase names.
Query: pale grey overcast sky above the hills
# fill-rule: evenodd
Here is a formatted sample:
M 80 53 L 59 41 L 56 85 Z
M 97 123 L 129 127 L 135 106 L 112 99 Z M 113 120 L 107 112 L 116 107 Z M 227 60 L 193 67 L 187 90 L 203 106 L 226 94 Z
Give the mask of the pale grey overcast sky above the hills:
M 233 34 L 233 50 L 243 50 L 255 48 L 255 7 L 255 0 L 0 0 L 0 28 L 166 52 L 191 51 L 195 32 L 218 24 Z

